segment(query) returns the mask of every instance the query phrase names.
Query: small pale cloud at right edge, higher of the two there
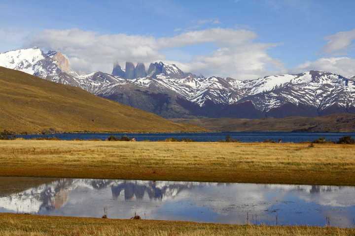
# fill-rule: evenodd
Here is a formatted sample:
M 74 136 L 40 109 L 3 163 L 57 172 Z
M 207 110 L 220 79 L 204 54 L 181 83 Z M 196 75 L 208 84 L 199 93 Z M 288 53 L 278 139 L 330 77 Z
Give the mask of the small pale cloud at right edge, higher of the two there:
M 345 53 L 355 40 L 355 29 L 337 32 L 325 37 L 328 40 L 323 47 L 325 53 Z

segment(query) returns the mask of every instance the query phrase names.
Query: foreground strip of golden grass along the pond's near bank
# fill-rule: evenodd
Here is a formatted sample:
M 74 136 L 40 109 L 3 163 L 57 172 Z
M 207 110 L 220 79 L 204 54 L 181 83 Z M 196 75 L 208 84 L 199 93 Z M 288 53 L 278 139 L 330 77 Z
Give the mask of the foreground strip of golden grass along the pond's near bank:
M 349 236 L 355 229 L 222 225 L 0 213 L 0 236 Z

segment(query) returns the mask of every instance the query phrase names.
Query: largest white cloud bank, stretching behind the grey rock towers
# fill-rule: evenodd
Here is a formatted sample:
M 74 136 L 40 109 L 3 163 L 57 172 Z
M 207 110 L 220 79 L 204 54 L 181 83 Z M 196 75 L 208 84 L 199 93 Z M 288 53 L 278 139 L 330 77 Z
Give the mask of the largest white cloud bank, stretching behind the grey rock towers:
M 185 71 L 204 75 L 250 79 L 271 74 L 270 68 L 283 71 L 282 63 L 267 50 L 275 44 L 254 43 L 250 30 L 213 28 L 183 32 L 172 37 L 127 34 L 99 34 L 80 29 L 47 29 L 27 46 L 57 50 L 71 61 L 73 69 L 84 72 L 111 72 L 112 64 L 125 61 L 149 63 L 164 60 L 164 51 L 212 43 L 218 49 L 205 56 L 191 55 L 190 61 L 175 61 Z M 207 56 L 206 56 L 207 55 Z M 188 55 L 185 58 L 189 58 Z

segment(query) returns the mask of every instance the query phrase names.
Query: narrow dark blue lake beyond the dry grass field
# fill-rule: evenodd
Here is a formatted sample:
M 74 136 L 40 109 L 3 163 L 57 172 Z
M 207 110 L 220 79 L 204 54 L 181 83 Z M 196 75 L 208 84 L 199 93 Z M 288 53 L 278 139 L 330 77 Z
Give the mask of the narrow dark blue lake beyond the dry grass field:
M 273 140 L 277 142 L 281 139 L 283 142 L 307 142 L 313 141 L 320 137 L 324 137 L 329 141 L 338 141 L 340 137 L 352 136 L 355 137 L 355 133 L 306 133 L 306 132 L 221 132 L 221 133 L 95 133 L 95 134 L 49 134 L 49 135 L 19 135 L 25 139 L 32 139 L 38 137 L 57 137 L 63 140 L 74 139 L 101 139 L 105 140 L 110 135 L 117 137 L 128 136 L 134 137 L 137 141 L 150 140 L 159 141 L 167 138 L 176 139 L 192 139 L 195 142 L 216 142 L 225 140 L 227 135 L 233 139 L 237 139 L 241 142 L 262 142 L 265 140 Z

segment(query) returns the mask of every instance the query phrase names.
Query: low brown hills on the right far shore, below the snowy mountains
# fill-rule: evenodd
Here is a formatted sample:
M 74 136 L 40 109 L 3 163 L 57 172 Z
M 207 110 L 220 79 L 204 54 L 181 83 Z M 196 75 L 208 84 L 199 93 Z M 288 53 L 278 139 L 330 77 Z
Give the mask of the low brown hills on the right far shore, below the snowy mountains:
M 355 131 L 354 114 L 334 114 L 323 117 L 288 117 L 263 119 L 196 118 L 173 119 L 173 121 L 200 125 L 212 131 Z

